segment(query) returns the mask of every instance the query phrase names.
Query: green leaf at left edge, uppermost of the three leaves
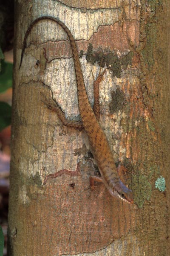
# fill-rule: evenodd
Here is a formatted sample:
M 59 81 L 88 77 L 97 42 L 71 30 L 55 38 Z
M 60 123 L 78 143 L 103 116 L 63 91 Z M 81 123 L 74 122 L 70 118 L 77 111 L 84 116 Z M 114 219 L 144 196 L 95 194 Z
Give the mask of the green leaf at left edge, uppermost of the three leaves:
M 12 86 L 12 70 L 13 64 L 1 61 L 0 93 L 3 93 Z

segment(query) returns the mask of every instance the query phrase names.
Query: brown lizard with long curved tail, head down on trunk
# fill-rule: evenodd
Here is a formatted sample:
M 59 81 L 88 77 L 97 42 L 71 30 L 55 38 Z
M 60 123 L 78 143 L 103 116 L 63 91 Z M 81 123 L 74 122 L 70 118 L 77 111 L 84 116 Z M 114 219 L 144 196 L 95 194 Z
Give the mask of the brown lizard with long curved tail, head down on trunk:
M 122 201 L 125 201 L 129 204 L 133 204 L 133 192 L 125 186 L 125 184 L 120 180 L 118 172 L 116 170 L 116 165 L 113 159 L 113 154 L 110 148 L 110 145 L 108 143 L 108 139 L 105 135 L 105 132 L 102 130 L 100 124 L 99 124 L 99 83 L 103 78 L 103 75 L 106 71 L 106 69 L 101 73 L 99 72 L 99 75 L 94 81 L 94 109 L 91 107 L 91 104 L 88 99 L 88 95 L 85 89 L 85 82 L 83 79 L 82 74 L 82 68 L 79 61 L 79 54 L 77 45 L 75 42 L 75 39 L 71 33 L 71 31 L 68 29 L 68 27 L 60 21 L 56 17 L 52 16 L 41 16 L 35 19 L 30 26 L 28 27 L 24 41 L 22 46 L 22 52 L 21 52 L 21 59 L 20 59 L 20 66 L 23 61 L 23 55 L 26 48 L 26 39 L 28 37 L 28 34 L 31 31 L 31 28 L 38 23 L 40 20 L 52 20 L 59 24 L 59 26 L 64 29 L 66 32 L 72 49 L 73 54 L 73 60 L 74 60 L 74 68 L 75 68 L 75 75 L 76 75 L 76 81 L 77 81 L 77 96 L 78 96 L 78 105 L 79 105 L 79 113 L 81 116 L 81 123 L 75 128 L 77 129 L 84 129 L 86 134 L 88 135 L 89 145 L 91 152 L 94 156 L 94 159 L 96 160 L 97 166 L 99 168 L 99 172 L 101 177 L 94 177 L 92 176 L 90 178 L 90 184 L 93 188 L 94 181 L 103 182 L 105 187 L 108 189 L 108 192 L 113 196 L 122 199 Z M 55 102 L 57 104 L 57 102 Z M 74 127 L 74 122 L 69 122 L 68 120 L 65 121 L 65 116 L 62 110 L 59 108 L 58 105 L 56 107 L 51 107 L 51 109 L 57 111 L 57 115 L 61 119 L 62 123 L 64 125 Z

